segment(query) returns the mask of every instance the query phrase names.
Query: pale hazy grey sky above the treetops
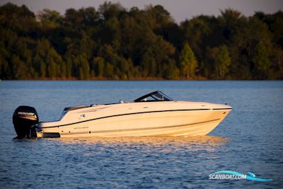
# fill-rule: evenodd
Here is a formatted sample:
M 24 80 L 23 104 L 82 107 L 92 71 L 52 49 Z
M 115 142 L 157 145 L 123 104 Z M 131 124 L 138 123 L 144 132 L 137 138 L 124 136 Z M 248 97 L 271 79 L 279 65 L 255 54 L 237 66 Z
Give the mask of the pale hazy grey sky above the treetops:
M 13 4 L 25 4 L 31 11 L 37 13 L 43 8 L 49 8 L 64 14 L 67 8 L 81 8 L 94 6 L 98 8 L 105 0 L 10 0 Z M 109 0 L 108 0 L 109 1 Z M 0 0 L 0 5 L 6 4 L 8 0 Z M 275 13 L 283 11 L 283 0 L 120 0 L 112 1 L 120 2 L 125 8 L 137 6 L 144 8 L 145 5 L 160 4 L 171 13 L 171 16 L 177 21 L 184 21 L 193 16 L 214 15 L 218 16 L 220 9 L 233 8 L 241 11 L 246 16 L 251 16 L 255 11 L 263 11 L 265 13 Z

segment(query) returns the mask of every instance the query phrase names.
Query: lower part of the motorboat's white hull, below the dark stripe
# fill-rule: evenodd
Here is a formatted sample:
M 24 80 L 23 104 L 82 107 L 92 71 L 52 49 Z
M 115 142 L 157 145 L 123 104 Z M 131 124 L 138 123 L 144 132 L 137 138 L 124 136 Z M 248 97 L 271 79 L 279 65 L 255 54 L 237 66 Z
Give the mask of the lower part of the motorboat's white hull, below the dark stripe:
M 221 110 L 169 110 L 112 115 L 41 128 L 38 137 L 141 137 L 206 135 L 230 113 Z

